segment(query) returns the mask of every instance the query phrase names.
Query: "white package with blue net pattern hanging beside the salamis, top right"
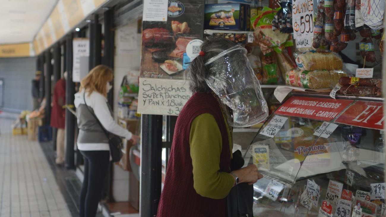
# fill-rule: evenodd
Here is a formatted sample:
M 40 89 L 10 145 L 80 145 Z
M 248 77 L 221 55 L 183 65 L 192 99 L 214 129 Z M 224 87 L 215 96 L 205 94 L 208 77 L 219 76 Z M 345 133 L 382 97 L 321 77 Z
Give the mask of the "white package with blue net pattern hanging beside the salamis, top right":
M 379 30 L 383 28 L 383 16 L 385 10 L 384 0 L 368 0 L 361 7 L 364 24 L 370 29 Z

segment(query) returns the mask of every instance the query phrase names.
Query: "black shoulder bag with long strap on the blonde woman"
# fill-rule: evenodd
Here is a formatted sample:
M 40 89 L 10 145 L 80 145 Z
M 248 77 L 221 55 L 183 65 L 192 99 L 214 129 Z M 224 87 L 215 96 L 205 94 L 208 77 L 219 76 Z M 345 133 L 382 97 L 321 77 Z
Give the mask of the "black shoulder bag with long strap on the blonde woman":
M 111 134 L 111 133 L 109 134 L 106 131 L 106 129 L 102 126 L 102 124 L 98 120 L 97 116 L 88 107 L 88 105 L 86 103 L 85 95 L 86 95 L 86 92 L 83 93 L 83 100 L 85 100 L 85 105 L 86 105 L 87 109 L 95 117 L 95 120 L 97 120 L 98 124 L 100 125 L 100 127 L 102 128 L 103 132 L 105 133 L 105 135 L 106 135 L 106 137 L 108 139 L 108 145 L 110 146 L 110 154 L 111 154 L 112 161 L 113 162 L 120 161 L 120 159 L 122 158 L 122 151 L 121 151 L 122 147 L 123 147 L 122 146 L 122 139 L 119 136 Z

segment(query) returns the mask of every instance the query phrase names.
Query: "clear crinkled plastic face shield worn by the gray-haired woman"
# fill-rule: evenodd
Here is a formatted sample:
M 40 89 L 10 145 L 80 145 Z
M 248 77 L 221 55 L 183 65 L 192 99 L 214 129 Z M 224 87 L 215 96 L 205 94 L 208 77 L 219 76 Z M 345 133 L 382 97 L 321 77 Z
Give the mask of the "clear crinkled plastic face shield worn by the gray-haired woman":
M 246 54 L 237 45 L 205 63 L 210 74 L 207 84 L 232 109 L 227 119 L 233 127 L 252 126 L 268 117 L 267 102 Z

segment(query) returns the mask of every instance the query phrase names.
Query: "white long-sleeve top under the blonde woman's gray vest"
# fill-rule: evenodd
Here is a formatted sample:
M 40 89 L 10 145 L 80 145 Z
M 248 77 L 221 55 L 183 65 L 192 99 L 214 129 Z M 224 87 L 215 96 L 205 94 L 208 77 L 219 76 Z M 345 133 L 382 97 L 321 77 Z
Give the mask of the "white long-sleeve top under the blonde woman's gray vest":
M 84 90 L 75 94 L 74 105 L 76 108 L 81 104 L 85 104 L 83 100 Z M 107 105 L 107 98 L 102 94 L 94 91 L 88 96 L 86 92 L 85 95 L 86 104 L 91 107 L 94 111 L 94 114 L 97 116 L 98 120 L 102 124 L 102 126 L 112 134 L 115 134 L 120 137 L 124 137 L 127 140 L 130 140 L 132 137 L 132 133 L 127 129 L 124 129 L 113 119 L 110 109 Z M 110 150 L 108 143 L 79 143 L 77 142 L 78 149 L 81 151 L 100 151 Z

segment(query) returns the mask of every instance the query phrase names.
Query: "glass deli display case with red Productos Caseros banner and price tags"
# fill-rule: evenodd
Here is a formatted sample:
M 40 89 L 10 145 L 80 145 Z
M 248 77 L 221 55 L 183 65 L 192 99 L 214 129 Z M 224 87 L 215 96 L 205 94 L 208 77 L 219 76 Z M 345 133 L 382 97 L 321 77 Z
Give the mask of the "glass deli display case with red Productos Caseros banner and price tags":
M 383 120 L 382 98 L 291 96 L 244 156 L 254 216 L 384 216 Z

